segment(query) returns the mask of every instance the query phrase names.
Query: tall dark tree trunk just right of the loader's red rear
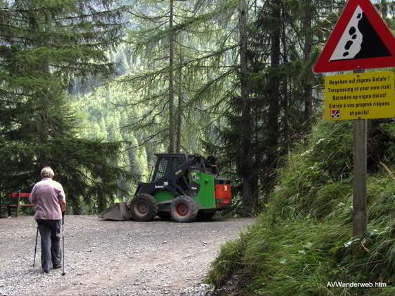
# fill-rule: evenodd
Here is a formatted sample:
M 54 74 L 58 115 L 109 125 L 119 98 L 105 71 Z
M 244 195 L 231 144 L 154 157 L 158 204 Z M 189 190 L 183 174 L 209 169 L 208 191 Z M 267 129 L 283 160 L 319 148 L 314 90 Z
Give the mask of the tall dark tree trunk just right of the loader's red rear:
M 252 149 L 251 149 L 251 103 L 248 89 L 247 61 L 247 3 L 239 2 L 240 34 L 240 85 L 241 85 L 241 174 L 243 178 L 243 216 L 252 214 L 254 197 L 252 195 Z

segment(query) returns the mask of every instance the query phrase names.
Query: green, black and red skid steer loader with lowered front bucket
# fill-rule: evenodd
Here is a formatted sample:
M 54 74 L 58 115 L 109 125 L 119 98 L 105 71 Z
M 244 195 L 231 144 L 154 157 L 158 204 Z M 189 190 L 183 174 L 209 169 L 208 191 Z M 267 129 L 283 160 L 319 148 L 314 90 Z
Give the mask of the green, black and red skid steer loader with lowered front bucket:
M 130 203 L 120 202 L 99 214 L 101 219 L 190 222 L 210 219 L 232 203 L 231 182 L 219 176 L 214 156 L 155 154 L 151 182 L 139 182 Z

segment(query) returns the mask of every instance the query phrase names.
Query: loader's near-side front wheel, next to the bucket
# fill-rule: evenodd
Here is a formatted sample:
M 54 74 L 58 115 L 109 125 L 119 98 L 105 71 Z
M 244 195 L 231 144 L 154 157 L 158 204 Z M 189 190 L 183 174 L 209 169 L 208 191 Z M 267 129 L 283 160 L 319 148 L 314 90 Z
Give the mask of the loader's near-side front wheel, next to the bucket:
M 158 213 L 158 205 L 153 196 L 141 193 L 132 198 L 130 213 L 136 221 L 154 220 L 156 213 Z

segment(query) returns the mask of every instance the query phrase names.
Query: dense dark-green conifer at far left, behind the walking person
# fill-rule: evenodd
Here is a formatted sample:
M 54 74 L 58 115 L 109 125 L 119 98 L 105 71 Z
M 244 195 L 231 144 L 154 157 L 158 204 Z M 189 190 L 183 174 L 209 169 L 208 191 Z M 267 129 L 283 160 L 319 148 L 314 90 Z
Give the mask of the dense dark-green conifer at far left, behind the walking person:
M 81 198 L 104 209 L 128 172 L 114 167 L 119 145 L 75 136 L 66 101 L 75 78 L 108 77 L 106 51 L 121 41 L 117 1 L 15 0 L 0 12 L 0 193 L 31 189 L 50 165 L 74 213 Z

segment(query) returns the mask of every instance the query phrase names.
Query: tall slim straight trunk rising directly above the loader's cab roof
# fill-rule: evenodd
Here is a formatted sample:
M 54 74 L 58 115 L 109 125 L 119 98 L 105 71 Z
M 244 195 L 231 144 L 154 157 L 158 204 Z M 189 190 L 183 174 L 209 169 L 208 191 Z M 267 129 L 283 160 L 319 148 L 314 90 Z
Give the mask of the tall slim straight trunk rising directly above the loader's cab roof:
M 169 153 L 174 153 L 175 118 L 174 118 L 174 0 L 170 0 L 170 54 L 169 54 Z

